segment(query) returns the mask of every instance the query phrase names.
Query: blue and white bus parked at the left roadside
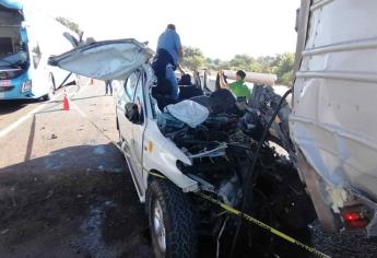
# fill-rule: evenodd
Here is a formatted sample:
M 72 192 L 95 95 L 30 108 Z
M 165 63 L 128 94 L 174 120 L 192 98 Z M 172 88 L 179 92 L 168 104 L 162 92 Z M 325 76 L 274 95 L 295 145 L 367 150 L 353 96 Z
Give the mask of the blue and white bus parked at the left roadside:
M 0 101 L 49 99 L 74 77 L 48 66 L 48 57 L 75 45 L 71 31 L 54 17 L 0 0 Z

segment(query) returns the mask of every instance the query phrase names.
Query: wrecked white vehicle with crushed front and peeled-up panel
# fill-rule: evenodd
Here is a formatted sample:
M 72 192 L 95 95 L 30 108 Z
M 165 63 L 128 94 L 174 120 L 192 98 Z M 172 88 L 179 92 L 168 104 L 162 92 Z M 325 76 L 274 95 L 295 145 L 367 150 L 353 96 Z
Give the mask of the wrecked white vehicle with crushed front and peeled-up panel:
M 160 109 L 160 97 L 152 95 L 156 78 L 151 57 L 145 45 L 120 39 L 78 47 L 50 58 L 50 63 L 123 82 L 116 97 L 117 128 L 150 218 L 155 255 L 193 257 L 198 236 L 226 239 L 236 230 L 237 220 L 195 195 L 199 191 L 285 232 L 305 231 L 315 219 L 310 199 L 292 160 L 270 144 L 294 150 L 287 103 L 271 86 L 255 85 L 248 104 L 223 89 Z M 273 249 L 273 237 L 263 230 L 243 227 L 239 234 L 239 245 Z M 219 249 L 228 246 L 224 242 L 219 241 Z

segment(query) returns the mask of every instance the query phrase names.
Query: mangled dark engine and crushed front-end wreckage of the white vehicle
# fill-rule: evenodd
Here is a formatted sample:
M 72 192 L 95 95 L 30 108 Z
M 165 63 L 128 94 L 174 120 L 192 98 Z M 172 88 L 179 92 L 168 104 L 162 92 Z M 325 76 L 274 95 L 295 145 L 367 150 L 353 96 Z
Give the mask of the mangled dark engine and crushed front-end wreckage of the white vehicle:
M 157 119 L 163 134 L 192 161 L 192 165 L 178 161 L 177 167 L 198 181 L 202 191 L 297 234 L 304 233 L 316 215 L 294 165 L 287 125 L 291 108 L 284 99 L 288 93 L 282 97 L 272 86 L 256 84 L 246 104 L 229 91 L 217 90 L 167 106 Z M 222 235 L 237 243 L 238 234 L 246 234 L 248 241 L 243 246 L 250 250 L 263 245 L 263 251 L 275 251 L 276 239 L 263 230 L 247 226 L 239 233 L 240 223 L 235 218 L 228 220 L 229 213 L 193 199 L 201 235 L 217 236 L 217 251 Z

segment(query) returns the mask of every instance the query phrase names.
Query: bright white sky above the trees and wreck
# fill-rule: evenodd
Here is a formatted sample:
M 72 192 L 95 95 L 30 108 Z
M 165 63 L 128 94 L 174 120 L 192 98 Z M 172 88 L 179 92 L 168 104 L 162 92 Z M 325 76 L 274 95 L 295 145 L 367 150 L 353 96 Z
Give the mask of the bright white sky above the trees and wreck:
M 25 0 L 54 16 L 79 23 L 96 40 L 136 38 L 155 49 L 174 23 L 182 45 L 229 60 L 295 51 L 299 0 Z

